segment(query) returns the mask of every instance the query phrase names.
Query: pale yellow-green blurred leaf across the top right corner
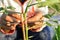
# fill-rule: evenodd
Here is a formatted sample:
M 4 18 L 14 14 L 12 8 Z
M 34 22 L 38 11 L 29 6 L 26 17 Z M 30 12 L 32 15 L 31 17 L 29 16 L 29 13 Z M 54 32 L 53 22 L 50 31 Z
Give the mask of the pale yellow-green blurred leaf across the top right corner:
M 45 2 L 41 2 L 40 0 L 36 0 L 38 3 L 40 3 L 38 6 L 51 6 L 53 4 L 59 3 L 60 0 L 46 0 Z

